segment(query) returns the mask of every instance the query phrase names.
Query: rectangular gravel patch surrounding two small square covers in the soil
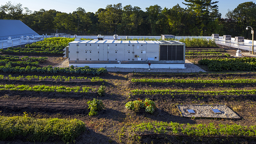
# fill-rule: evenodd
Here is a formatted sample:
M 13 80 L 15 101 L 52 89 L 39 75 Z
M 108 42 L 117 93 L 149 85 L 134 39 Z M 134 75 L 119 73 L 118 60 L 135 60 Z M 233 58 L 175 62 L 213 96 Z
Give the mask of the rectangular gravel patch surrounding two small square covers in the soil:
M 209 117 L 209 118 L 232 118 L 240 117 L 230 110 L 226 105 L 177 105 L 183 117 Z M 218 109 L 221 114 L 215 114 L 212 109 Z M 188 113 L 187 110 L 194 110 L 195 113 Z

